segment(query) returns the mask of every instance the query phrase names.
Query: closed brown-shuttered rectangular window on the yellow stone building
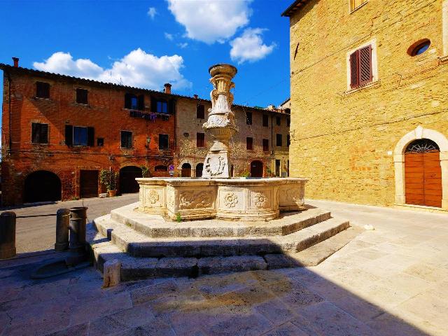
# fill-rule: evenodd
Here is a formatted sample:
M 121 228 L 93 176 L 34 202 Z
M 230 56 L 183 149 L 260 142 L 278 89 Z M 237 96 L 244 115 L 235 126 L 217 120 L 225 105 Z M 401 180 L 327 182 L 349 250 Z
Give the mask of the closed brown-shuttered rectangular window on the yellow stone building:
M 372 45 L 367 45 L 350 55 L 350 87 L 356 89 L 372 79 Z

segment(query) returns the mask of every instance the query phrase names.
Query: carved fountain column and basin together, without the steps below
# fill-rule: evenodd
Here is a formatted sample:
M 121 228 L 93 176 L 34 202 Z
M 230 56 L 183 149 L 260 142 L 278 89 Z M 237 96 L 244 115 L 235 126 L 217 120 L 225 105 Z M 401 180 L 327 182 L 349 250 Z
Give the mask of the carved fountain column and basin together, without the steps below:
M 307 179 L 230 179 L 229 141 L 237 127 L 231 110 L 235 66 L 216 64 L 209 69 L 211 109 L 203 127 L 214 143 L 204 160 L 202 179 L 137 179 L 139 211 L 186 220 L 225 218 L 272 220 L 281 210 L 304 209 Z

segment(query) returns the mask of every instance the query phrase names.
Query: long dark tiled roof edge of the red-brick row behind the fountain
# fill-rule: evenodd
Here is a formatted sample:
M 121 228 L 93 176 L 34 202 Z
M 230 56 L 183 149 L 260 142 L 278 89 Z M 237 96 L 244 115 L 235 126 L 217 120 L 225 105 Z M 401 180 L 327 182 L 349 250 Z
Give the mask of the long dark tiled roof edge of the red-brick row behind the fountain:
M 180 97 L 180 98 L 191 99 L 191 100 L 200 100 L 202 102 L 210 102 L 209 99 L 183 96 L 181 94 L 174 94 L 174 93 L 168 94 L 168 93 L 161 92 L 161 91 L 144 89 L 142 87 L 133 87 L 133 86 L 120 85 L 120 84 L 115 84 L 115 83 L 106 83 L 106 82 L 101 82 L 99 80 L 92 80 L 92 79 L 87 79 L 87 78 L 62 75 L 60 73 L 52 73 L 52 72 L 47 72 L 47 71 L 23 68 L 22 66 L 15 67 L 15 66 L 12 66 L 9 64 L 4 64 L 4 63 L 0 63 L 0 69 L 1 70 L 13 70 L 13 71 L 17 71 L 17 70 L 25 71 L 27 73 L 30 73 L 30 74 L 33 74 L 36 76 L 43 76 L 43 77 L 50 77 L 50 78 L 64 78 L 66 80 L 72 80 L 72 81 L 76 81 L 76 82 L 80 82 L 80 83 L 85 83 L 88 85 L 97 85 L 97 86 L 103 86 L 103 87 L 116 87 L 118 89 L 125 89 L 125 90 L 138 90 L 138 91 L 143 91 L 143 92 L 148 92 L 148 93 L 157 93 L 157 94 L 162 94 L 162 95 L 166 95 L 166 96 Z M 259 109 L 258 107 L 251 107 L 251 106 L 244 106 L 244 105 L 237 105 L 237 104 L 233 104 L 233 106 L 241 107 L 244 109 L 253 109 L 253 110 L 258 110 L 258 111 L 263 110 L 263 109 Z M 277 112 L 277 113 L 282 113 L 282 112 Z

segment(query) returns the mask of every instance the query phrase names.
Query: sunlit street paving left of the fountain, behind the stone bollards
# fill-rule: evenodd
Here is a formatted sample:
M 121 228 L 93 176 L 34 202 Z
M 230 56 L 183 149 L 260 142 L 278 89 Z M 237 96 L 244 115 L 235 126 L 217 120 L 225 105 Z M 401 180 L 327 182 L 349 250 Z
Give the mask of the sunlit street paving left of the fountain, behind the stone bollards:
M 0 211 L 14 211 L 17 216 L 37 216 L 17 218 L 16 246 L 18 253 L 45 251 L 55 247 L 57 209 L 88 207 L 87 219 L 109 214 L 112 209 L 137 202 L 139 194 L 127 194 L 112 198 L 85 198 L 77 201 L 54 202 L 51 204 L 25 204 L 19 207 L 1 208 Z M 41 217 L 38 217 L 41 216 Z

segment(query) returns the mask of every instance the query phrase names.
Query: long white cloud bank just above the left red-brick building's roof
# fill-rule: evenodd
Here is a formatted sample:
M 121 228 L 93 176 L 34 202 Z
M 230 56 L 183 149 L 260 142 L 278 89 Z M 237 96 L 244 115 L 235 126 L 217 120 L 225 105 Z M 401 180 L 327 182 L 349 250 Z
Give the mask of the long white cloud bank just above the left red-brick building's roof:
M 34 62 L 33 65 L 42 71 L 151 90 L 161 90 L 164 83 L 172 83 L 174 89 L 192 85 L 181 74 L 183 68 L 181 56 L 157 57 L 140 48 L 113 62 L 109 69 L 94 64 L 90 59 L 73 59 L 69 52 L 55 52 L 45 59 L 45 62 Z

